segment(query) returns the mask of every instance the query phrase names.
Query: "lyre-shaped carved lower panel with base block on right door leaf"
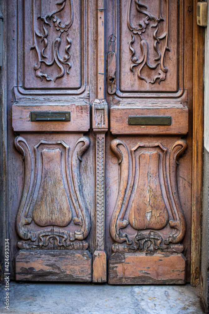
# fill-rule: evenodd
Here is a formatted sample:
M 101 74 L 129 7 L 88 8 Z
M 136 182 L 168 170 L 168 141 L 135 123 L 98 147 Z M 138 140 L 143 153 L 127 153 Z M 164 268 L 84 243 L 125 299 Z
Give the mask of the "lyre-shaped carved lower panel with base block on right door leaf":
M 110 147 L 119 187 L 110 223 L 109 284 L 184 284 L 186 223 L 178 165 L 186 141 L 116 138 Z

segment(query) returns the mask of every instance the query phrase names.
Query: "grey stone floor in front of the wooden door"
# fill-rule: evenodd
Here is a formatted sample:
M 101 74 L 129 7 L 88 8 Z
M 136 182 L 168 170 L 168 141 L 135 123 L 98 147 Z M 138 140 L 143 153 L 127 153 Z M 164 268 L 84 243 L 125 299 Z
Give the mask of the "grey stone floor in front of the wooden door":
M 5 297 L 1 287 L 1 300 Z M 203 314 L 197 290 L 187 285 L 10 282 L 11 314 Z

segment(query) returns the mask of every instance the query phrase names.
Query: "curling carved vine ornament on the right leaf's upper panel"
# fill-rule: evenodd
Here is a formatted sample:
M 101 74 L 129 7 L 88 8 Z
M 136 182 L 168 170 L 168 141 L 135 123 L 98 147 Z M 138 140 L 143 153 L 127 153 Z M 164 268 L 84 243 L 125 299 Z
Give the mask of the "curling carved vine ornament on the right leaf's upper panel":
M 150 3 L 152 2 L 152 3 Z M 135 5 L 134 5 L 135 3 Z M 162 7 L 165 4 L 165 15 L 162 16 Z M 138 13 L 138 24 L 132 21 L 134 9 Z M 167 68 L 164 66 L 165 51 L 168 47 L 168 13 L 169 0 L 138 1 L 129 0 L 127 24 L 132 32 L 132 39 L 129 43 L 131 50 L 130 70 L 134 74 L 134 67 L 138 66 L 138 78 L 145 82 L 154 84 L 165 80 Z M 161 26 L 163 24 L 163 27 Z M 135 38 L 134 35 L 137 35 Z M 144 77 L 141 72 L 147 66 L 154 73 L 151 80 Z M 159 66 L 159 67 L 158 67 Z

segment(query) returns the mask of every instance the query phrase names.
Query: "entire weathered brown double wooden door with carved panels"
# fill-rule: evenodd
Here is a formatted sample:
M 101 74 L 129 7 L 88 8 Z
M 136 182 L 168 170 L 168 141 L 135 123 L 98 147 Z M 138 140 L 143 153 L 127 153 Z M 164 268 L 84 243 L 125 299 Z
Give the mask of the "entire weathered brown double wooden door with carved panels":
M 16 280 L 190 281 L 189 4 L 8 4 Z

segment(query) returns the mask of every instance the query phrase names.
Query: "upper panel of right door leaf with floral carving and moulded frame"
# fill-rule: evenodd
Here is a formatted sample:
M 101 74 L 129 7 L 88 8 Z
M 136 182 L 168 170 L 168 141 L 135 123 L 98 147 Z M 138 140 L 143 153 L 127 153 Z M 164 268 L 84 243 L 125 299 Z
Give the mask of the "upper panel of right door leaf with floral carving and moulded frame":
M 122 0 L 117 5 L 120 91 L 116 94 L 123 97 L 126 92 L 177 92 L 181 40 L 178 1 Z

